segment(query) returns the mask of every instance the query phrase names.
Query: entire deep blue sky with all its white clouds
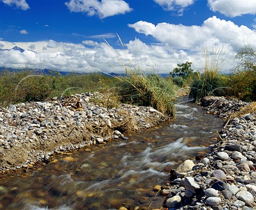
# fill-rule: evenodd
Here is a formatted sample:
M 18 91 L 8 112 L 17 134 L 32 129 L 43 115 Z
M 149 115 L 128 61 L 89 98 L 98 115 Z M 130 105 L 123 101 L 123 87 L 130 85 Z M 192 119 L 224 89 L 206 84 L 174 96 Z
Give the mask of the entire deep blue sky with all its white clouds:
M 0 0 L 0 67 L 169 74 L 222 49 L 256 47 L 256 0 Z

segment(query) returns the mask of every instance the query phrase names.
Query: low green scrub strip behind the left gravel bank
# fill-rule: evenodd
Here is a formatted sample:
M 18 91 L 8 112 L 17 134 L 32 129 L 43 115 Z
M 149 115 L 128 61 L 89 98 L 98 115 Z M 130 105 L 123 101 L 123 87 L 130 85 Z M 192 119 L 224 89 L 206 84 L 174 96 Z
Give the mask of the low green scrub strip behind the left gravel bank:
M 50 75 L 30 70 L 5 71 L 0 76 L 0 106 L 74 93 L 106 92 L 115 83 L 115 78 L 95 73 L 61 76 L 58 71 L 51 71 Z

